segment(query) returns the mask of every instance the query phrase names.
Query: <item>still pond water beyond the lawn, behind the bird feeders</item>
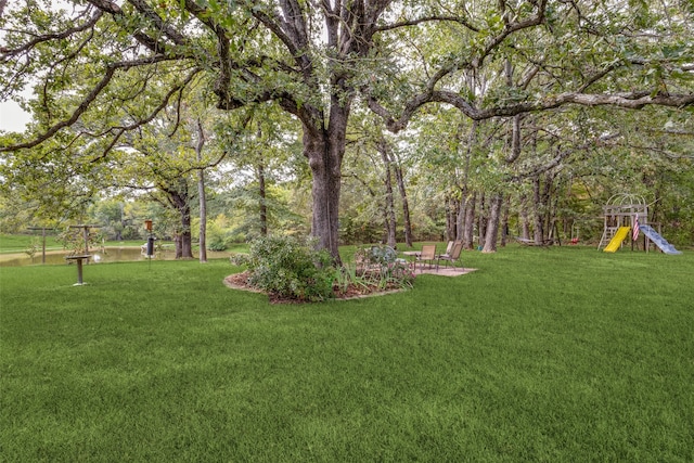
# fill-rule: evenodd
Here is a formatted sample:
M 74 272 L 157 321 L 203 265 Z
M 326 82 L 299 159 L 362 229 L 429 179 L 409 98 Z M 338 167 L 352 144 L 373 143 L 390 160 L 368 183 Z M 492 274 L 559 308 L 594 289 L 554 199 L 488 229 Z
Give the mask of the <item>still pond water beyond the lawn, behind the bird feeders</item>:
M 105 253 L 104 253 L 105 250 Z M 92 256 L 94 256 L 90 262 L 101 263 L 101 262 L 128 262 L 128 261 L 138 261 L 147 260 L 146 256 L 144 256 L 139 247 L 106 247 L 104 249 L 90 250 Z M 46 263 L 47 265 L 57 265 L 57 263 L 66 263 L 65 256 L 67 255 L 64 250 L 51 250 L 46 253 Z M 197 254 L 193 253 L 193 256 L 197 258 Z M 229 253 L 227 252 L 207 252 L 208 259 L 223 258 L 229 257 Z M 155 260 L 174 260 L 176 258 L 176 253 L 174 249 L 164 249 L 158 250 L 154 256 Z M 41 253 L 36 253 L 34 258 L 30 258 L 26 254 L 0 254 L 0 267 L 22 267 L 22 266 L 31 266 L 31 265 L 41 265 Z

